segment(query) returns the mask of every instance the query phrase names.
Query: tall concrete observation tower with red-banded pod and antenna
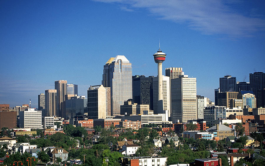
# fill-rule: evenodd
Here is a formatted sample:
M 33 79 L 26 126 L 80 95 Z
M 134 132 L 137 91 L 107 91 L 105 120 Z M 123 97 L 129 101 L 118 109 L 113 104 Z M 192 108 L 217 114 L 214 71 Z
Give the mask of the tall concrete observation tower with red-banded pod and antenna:
M 155 63 L 158 66 L 158 103 L 157 103 L 157 112 L 163 113 L 163 78 L 162 78 L 162 63 L 165 61 L 165 56 L 167 54 L 160 51 L 160 43 L 159 43 L 159 51 L 154 53 Z

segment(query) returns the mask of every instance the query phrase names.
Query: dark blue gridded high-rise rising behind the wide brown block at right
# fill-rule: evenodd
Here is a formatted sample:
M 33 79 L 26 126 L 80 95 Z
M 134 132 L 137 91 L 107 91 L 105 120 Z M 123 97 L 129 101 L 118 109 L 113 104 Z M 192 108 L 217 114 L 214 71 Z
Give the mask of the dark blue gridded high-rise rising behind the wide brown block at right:
M 224 76 L 219 78 L 220 92 L 236 92 L 236 77 Z

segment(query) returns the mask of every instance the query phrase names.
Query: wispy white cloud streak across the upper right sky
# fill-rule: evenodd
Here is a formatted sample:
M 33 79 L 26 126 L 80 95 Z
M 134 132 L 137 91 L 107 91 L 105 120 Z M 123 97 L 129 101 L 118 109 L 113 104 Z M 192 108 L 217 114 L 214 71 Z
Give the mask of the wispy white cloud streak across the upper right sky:
M 177 1 L 177 0 L 95 0 L 116 3 L 121 10 L 146 9 L 158 19 L 170 20 L 203 34 L 226 35 L 232 38 L 252 37 L 265 30 L 264 16 L 256 9 L 240 13 L 235 6 L 241 1 Z M 242 11 L 243 12 L 243 11 Z M 246 14 L 249 13 L 249 14 Z

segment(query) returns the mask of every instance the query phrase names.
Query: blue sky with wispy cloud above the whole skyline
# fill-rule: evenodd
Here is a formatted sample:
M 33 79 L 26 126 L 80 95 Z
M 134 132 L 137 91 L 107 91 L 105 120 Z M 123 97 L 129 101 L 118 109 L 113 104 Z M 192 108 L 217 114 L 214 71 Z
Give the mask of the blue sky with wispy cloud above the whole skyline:
M 133 75 L 157 75 L 158 41 L 167 67 L 197 78 L 214 100 L 219 77 L 249 81 L 265 72 L 264 1 L 0 1 L 0 103 L 22 105 L 55 80 L 79 95 L 101 84 L 103 65 L 125 55 Z

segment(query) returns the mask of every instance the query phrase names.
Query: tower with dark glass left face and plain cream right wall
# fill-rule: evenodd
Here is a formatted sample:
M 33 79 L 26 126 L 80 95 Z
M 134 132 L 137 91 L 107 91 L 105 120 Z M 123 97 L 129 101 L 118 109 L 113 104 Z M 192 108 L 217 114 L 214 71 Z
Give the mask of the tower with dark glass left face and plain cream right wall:
M 87 90 L 87 115 L 90 119 L 106 118 L 106 89 L 103 85 L 90 86 Z

